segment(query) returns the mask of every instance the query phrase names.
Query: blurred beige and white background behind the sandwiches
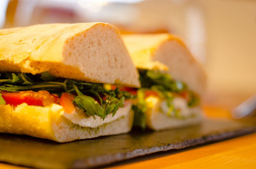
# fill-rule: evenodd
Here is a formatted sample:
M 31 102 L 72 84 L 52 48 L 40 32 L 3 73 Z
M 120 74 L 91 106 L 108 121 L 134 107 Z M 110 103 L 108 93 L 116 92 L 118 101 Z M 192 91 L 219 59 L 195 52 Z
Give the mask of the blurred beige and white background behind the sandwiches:
M 205 103 L 256 94 L 255 0 L 1 0 L 0 27 L 109 22 L 122 33 L 173 33 L 208 75 Z

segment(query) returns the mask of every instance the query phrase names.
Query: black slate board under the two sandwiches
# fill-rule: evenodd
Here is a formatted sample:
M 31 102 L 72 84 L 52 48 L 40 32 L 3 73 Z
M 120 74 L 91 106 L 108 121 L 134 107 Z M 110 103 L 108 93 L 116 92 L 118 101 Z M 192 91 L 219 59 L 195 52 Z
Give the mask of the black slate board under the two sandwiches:
M 91 168 L 124 159 L 256 131 L 256 122 L 205 119 L 198 126 L 166 131 L 132 131 L 125 135 L 56 143 L 29 136 L 0 134 L 0 161 L 35 168 Z

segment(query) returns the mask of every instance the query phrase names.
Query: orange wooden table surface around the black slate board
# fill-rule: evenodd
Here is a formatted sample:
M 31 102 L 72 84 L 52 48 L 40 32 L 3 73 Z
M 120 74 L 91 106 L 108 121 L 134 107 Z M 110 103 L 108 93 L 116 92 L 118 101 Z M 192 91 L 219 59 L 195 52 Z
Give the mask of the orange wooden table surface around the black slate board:
M 229 111 L 223 108 L 204 109 L 211 117 L 230 118 Z M 24 167 L 0 163 L 0 168 Z M 256 168 L 256 133 L 181 151 L 160 152 L 109 168 Z

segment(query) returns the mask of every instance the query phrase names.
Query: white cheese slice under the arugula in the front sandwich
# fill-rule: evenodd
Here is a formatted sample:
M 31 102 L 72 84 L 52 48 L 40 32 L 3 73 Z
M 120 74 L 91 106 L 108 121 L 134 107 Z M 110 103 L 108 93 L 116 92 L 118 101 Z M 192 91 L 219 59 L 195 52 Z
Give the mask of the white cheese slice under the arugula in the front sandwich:
M 103 120 L 99 116 L 95 115 L 95 118 L 93 116 L 87 116 L 83 110 L 79 111 L 77 110 L 74 114 L 68 114 L 66 112 L 63 112 L 63 116 L 66 117 L 69 121 L 71 121 L 74 124 L 78 124 L 82 127 L 89 127 L 89 128 L 96 128 L 97 126 L 101 126 L 102 124 L 113 122 L 116 119 L 119 119 L 120 117 L 126 116 L 129 114 L 131 110 L 131 103 L 125 103 L 125 107 L 119 108 L 116 111 L 116 114 L 113 116 L 113 114 L 109 114 L 106 116 L 106 118 Z

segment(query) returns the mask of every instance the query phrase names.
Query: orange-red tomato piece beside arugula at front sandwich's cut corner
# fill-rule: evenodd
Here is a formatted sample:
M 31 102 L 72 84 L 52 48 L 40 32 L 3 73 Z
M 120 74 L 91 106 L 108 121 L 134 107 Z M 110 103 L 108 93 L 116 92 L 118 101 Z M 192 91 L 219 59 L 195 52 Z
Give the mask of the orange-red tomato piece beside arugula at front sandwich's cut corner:
M 76 108 L 73 104 L 74 96 L 71 96 L 68 93 L 63 93 L 60 97 L 60 105 L 64 108 L 65 112 L 68 114 L 73 114 L 76 111 Z

